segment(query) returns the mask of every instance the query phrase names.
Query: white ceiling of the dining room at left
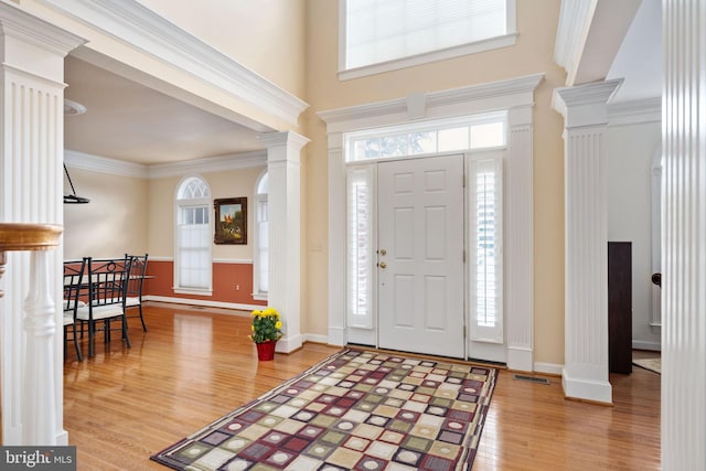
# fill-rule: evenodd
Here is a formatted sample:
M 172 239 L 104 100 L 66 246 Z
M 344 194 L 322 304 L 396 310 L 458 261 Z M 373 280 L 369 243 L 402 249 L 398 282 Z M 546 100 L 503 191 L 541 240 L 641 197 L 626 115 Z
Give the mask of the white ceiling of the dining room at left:
M 68 56 L 64 96 L 87 111 L 64 119 L 68 150 L 141 164 L 264 149 L 254 131 Z

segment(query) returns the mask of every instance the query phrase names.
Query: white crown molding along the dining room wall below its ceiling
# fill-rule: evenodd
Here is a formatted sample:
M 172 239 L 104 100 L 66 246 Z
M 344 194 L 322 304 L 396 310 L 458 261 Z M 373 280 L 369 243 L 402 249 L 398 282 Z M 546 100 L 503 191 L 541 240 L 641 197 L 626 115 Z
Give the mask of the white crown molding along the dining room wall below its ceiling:
M 184 162 L 143 165 L 140 163 L 126 162 L 124 160 L 93 156 L 74 150 L 65 150 L 64 163 L 66 163 L 66 167 L 88 170 L 90 172 L 153 180 L 168 176 L 182 176 L 190 173 L 215 173 L 228 170 L 247 169 L 252 167 L 266 167 L 267 152 L 244 152 L 229 156 L 208 157 L 205 159 L 194 159 Z

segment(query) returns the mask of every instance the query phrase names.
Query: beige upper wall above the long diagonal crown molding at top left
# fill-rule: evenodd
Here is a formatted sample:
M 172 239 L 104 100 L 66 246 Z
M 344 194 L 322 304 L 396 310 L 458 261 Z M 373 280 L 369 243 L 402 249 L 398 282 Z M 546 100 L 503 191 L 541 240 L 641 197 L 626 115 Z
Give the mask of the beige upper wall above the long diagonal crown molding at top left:
M 303 0 L 140 3 L 287 92 L 303 96 Z

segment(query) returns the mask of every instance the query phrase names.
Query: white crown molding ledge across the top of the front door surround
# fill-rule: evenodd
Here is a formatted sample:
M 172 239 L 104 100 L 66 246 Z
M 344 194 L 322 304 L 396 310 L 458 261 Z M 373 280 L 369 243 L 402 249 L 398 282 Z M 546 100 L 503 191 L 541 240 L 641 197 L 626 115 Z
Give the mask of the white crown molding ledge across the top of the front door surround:
M 410 97 L 377 101 L 349 108 L 320 111 L 328 132 L 346 132 L 362 127 L 387 126 L 406 122 L 410 111 L 415 119 L 435 119 L 439 116 L 467 116 L 512 107 L 533 105 L 534 90 L 544 74 L 533 74 L 506 81 L 471 85 Z M 414 110 L 410 109 L 414 105 Z

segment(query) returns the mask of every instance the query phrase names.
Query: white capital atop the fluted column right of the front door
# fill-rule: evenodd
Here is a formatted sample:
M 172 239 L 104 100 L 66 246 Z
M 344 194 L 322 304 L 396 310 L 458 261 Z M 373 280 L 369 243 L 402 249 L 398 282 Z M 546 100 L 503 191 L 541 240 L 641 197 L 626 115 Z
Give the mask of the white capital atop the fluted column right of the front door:
M 567 129 L 608 122 L 608 101 L 613 97 L 622 78 L 591 82 L 574 87 L 555 88 L 552 108 L 565 120 Z

